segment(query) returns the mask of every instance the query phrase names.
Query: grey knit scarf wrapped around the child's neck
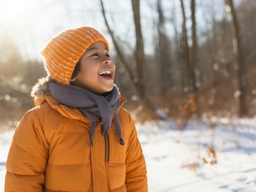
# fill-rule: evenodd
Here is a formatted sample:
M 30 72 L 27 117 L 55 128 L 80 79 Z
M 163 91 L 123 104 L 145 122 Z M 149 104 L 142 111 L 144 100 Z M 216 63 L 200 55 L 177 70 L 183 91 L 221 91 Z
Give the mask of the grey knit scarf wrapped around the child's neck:
M 111 128 L 111 121 L 115 115 L 115 127 L 120 137 L 120 144 L 124 145 L 121 126 L 117 114 L 120 106 L 119 91 L 116 86 L 104 95 L 95 95 L 88 90 L 73 85 L 59 85 L 49 82 L 51 95 L 65 106 L 77 107 L 78 110 L 92 121 L 91 142 L 94 138 L 97 121 L 101 118 L 103 122 L 102 134 L 107 135 Z

